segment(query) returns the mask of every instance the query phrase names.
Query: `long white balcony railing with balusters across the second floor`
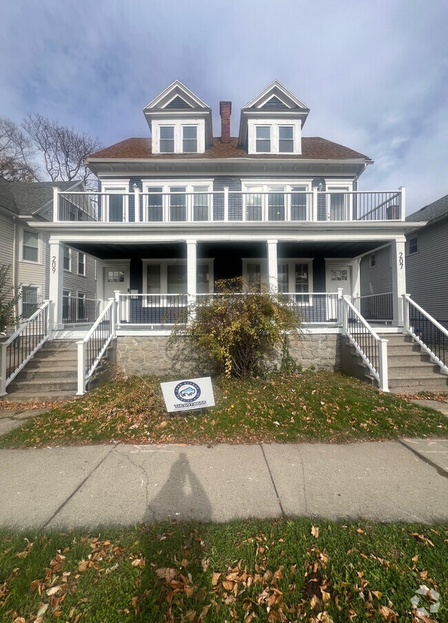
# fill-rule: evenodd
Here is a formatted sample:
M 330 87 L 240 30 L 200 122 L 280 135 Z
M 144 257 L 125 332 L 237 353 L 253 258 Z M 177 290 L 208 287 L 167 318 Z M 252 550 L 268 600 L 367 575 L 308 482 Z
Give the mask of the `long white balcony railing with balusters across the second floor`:
M 154 187 L 149 192 L 61 192 L 54 189 L 53 220 L 101 223 L 211 223 L 229 221 L 404 221 L 405 188 L 385 191 L 270 188 L 211 191 Z

